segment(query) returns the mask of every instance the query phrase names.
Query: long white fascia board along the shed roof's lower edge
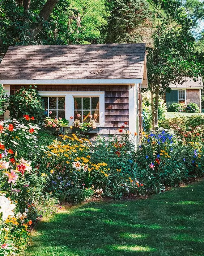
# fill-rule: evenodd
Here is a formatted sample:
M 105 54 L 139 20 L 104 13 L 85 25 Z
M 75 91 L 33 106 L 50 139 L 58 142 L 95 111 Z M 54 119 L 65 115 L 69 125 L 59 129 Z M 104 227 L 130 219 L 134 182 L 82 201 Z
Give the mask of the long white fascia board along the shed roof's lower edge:
M 142 79 L 2 79 L 9 85 L 94 85 L 94 84 L 142 84 Z

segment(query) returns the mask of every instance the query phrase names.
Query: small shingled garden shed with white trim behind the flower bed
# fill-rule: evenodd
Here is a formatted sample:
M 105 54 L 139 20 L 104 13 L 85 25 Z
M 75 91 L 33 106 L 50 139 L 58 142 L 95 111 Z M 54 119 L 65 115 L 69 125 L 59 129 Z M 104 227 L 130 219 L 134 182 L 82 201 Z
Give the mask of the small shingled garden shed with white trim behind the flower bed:
M 147 88 L 145 44 L 10 46 L 0 64 L 8 94 L 37 86 L 47 115 L 97 117 L 97 133 L 140 133 L 141 88 Z M 9 113 L 5 113 L 5 118 Z M 92 139 L 94 136 L 92 135 Z

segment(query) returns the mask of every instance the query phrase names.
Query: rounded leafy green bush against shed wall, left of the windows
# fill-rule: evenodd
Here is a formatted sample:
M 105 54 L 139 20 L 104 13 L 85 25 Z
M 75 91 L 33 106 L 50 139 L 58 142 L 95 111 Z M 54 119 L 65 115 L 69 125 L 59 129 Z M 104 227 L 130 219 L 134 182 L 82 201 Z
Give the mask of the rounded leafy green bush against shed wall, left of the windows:
M 44 117 L 42 99 L 37 90 L 22 87 L 14 95 L 9 97 L 8 110 L 10 117 L 21 119 L 24 115 L 34 117 L 36 121 L 41 121 Z

